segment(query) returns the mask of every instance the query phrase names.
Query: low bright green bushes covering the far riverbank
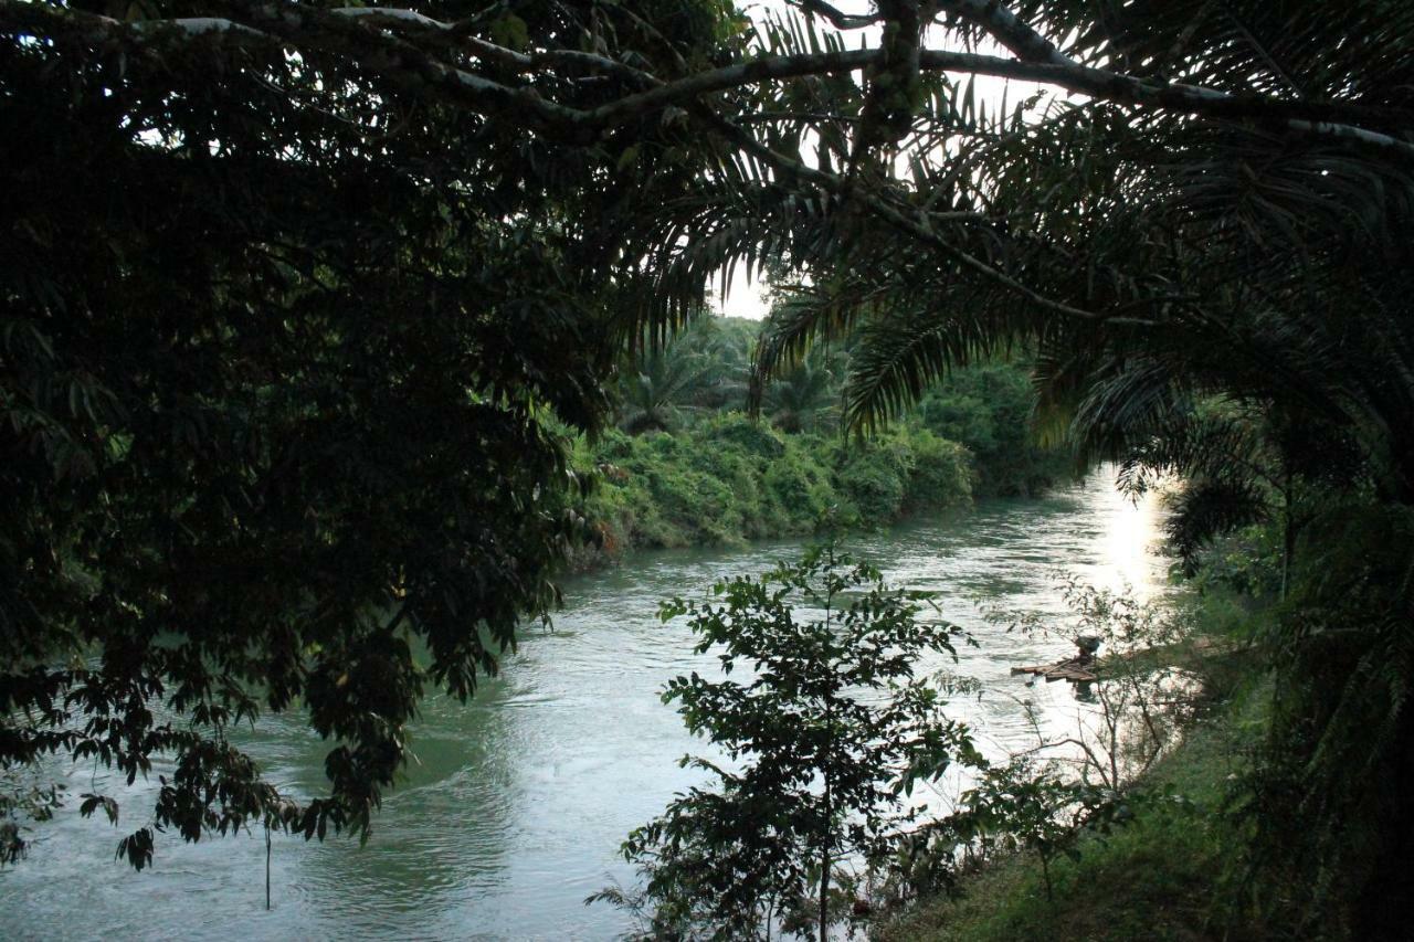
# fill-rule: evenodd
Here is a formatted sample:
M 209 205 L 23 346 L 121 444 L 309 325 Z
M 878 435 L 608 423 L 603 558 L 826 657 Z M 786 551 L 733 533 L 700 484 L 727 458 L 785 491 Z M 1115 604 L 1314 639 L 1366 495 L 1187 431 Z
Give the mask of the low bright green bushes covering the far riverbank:
M 595 477 L 577 509 L 597 539 L 577 553 L 577 571 L 632 550 L 809 536 L 827 521 L 888 526 L 969 506 L 978 478 L 964 446 L 921 426 L 847 446 L 740 413 L 673 434 L 611 431 L 592 446 L 581 441 L 574 463 Z

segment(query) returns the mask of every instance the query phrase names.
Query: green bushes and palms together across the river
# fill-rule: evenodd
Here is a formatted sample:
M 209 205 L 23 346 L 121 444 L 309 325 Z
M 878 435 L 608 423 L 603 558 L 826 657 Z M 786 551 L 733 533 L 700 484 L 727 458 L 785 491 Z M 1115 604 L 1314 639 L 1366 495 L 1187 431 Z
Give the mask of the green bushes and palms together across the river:
M 580 441 L 595 470 L 583 512 L 618 554 L 803 535 L 833 513 L 881 526 L 973 496 L 1034 494 L 1068 460 L 1031 434 L 1027 366 L 957 371 L 905 420 L 846 446 L 839 430 L 847 351 L 812 354 L 744 414 L 759 324 L 711 318 L 629 361 L 618 427 Z

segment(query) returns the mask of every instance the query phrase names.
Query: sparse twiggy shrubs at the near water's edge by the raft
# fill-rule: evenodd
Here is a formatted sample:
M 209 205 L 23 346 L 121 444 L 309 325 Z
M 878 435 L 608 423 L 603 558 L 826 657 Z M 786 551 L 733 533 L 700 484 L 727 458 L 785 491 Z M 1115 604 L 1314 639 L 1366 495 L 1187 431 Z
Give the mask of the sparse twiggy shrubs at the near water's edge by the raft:
M 1044 731 L 1024 700 L 1035 744 L 986 764 L 956 810 L 905 842 L 888 885 L 892 904 L 952 892 L 969 867 L 1017 850 L 1036 853 L 1053 901 L 1053 861 L 1079 860 L 1082 844 L 1127 825 L 1141 809 L 1184 802 L 1171 789 L 1154 791 L 1148 774 L 1176 745 L 1202 696 L 1191 666 L 1198 663 L 1191 618 L 1076 577 L 1066 580 L 1063 597 L 1072 612 L 1065 627 L 1035 614 L 994 611 L 988 618 L 1007 631 L 1065 636 L 1089 652 L 1082 658 L 1096 680 L 1077 686 L 1073 731 Z M 1103 659 L 1094 659 L 1097 649 Z

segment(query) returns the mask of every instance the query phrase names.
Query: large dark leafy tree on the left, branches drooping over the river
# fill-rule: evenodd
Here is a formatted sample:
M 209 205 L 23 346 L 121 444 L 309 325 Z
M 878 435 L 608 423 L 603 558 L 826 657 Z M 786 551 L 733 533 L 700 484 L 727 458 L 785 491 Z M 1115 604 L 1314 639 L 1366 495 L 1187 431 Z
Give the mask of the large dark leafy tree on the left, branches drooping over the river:
M 290 8 L 365 51 L 386 35 Z M 672 8 L 477 31 L 609 30 L 672 71 L 721 30 Z M 658 184 L 629 181 L 626 144 L 551 146 L 406 75 L 228 41 L 211 8 L 124 10 L 0 17 L 0 764 L 132 782 L 168 760 L 123 818 L 146 822 L 119 846 L 136 867 L 167 829 L 366 836 L 421 693 L 471 696 L 554 604 L 577 537 L 554 429 L 607 416 L 617 298 L 645 277 L 617 219 Z M 635 133 L 636 165 L 679 137 Z M 694 173 L 673 165 L 662 184 Z M 329 741 L 305 805 L 232 743 L 281 710 Z M 16 788 L 7 857 L 45 813 Z

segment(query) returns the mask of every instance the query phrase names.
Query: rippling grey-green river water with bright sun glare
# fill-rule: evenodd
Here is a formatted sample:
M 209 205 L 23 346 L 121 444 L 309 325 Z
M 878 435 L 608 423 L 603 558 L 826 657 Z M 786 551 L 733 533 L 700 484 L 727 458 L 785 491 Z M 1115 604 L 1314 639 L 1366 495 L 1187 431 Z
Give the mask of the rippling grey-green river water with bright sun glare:
M 1010 673 L 1073 648 L 1005 632 L 983 611 L 1059 622 L 1060 573 L 1128 584 L 1141 597 L 1164 593 L 1157 519 L 1151 505 L 1130 505 L 1097 474 L 1046 498 L 987 501 L 861 536 L 848 549 L 895 584 L 937 593 L 943 617 L 974 634 L 978 646 L 959 648 L 957 665 L 922 666 L 981 682 L 980 694 L 956 699 L 949 711 L 1000 754 L 1034 743 L 1022 700 L 1048 726 L 1073 720 L 1068 685 L 1027 687 Z M 151 786 L 122 789 L 90 768 L 72 769 L 71 808 L 40 826 L 28 860 L 0 871 L 0 938 L 611 939 L 625 917 L 584 907 L 584 897 L 611 878 L 631 883 L 619 842 L 700 781 L 676 760 L 701 752 L 703 743 L 659 693 L 670 676 L 711 665 L 691 655 L 682 624 L 658 621 L 658 605 L 704 593 L 723 576 L 764 571 L 799 549 L 778 542 L 645 553 L 567 583 L 553 628 L 526 631 L 471 706 L 426 704 L 413 740 L 419 764 L 386 798 L 366 846 L 273 837 L 269 912 L 263 833 L 199 844 L 160 836 L 154 866 L 133 873 L 113 861 L 113 849 L 141 825 Z M 320 788 L 327 750 L 298 717 L 264 719 L 243 738 L 273 781 L 303 793 Z M 74 812 L 76 795 L 95 785 L 123 801 L 119 829 Z

